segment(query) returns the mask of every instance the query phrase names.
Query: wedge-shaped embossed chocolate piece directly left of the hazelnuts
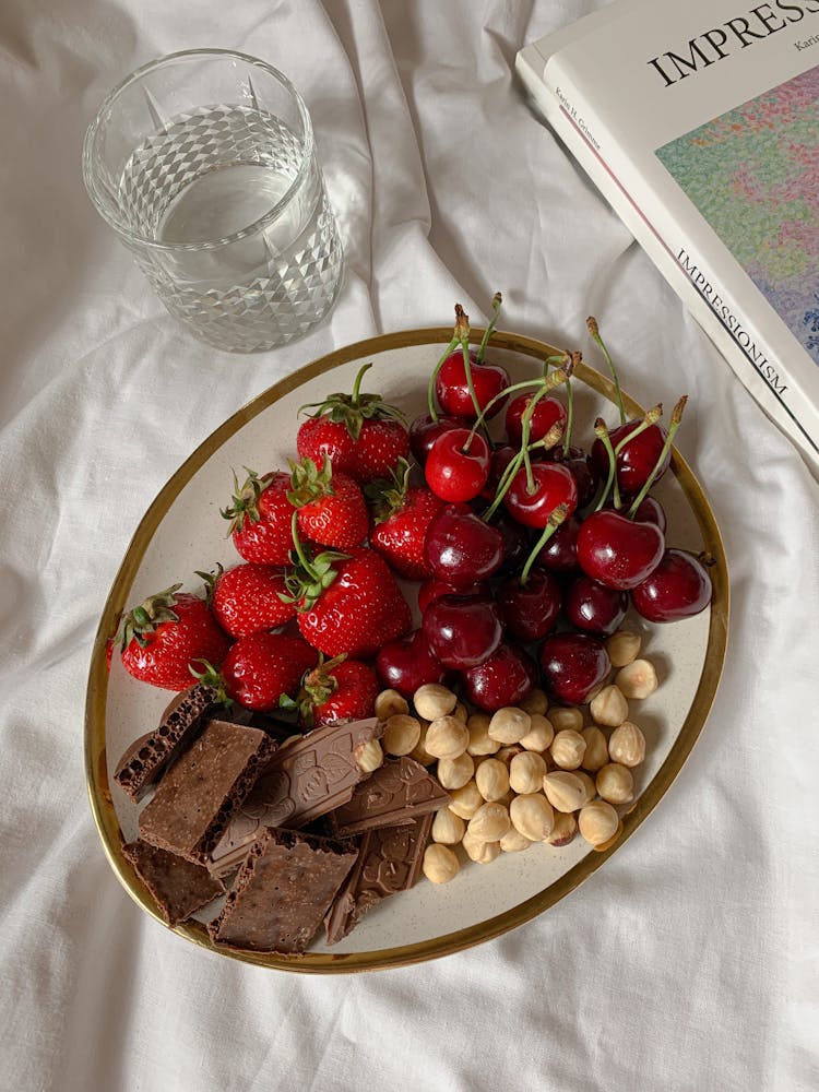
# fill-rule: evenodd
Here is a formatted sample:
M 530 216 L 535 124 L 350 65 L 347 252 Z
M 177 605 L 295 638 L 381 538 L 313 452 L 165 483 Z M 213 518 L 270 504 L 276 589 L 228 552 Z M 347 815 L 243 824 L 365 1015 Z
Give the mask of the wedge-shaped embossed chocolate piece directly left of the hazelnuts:
M 414 759 L 389 760 L 331 816 L 333 830 L 347 838 L 376 827 L 412 822 L 446 808 L 452 797 Z

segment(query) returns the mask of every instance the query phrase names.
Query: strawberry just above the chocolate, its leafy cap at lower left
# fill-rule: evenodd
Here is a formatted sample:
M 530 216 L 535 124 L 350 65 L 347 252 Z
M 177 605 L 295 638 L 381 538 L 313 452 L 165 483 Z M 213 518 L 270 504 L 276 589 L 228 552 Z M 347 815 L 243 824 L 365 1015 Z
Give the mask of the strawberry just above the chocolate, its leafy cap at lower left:
M 278 709 L 282 697 L 298 693 L 301 677 L 316 666 L 316 650 L 300 637 L 250 633 L 240 637 L 222 664 L 228 698 L 245 709 L 268 713 Z M 212 682 L 210 673 L 203 681 Z

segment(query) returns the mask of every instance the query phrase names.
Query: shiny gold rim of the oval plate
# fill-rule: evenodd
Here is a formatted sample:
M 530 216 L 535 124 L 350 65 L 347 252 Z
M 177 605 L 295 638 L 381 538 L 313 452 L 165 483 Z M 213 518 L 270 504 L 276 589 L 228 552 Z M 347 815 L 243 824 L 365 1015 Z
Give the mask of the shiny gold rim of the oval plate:
M 371 337 L 367 341 L 356 342 L 355 344 L 329 353 L 327 356 L 313 360 L 311 364 L 274 383 L 242 408 L 238 410 L 233 416 L 228 417 L 226 422 L 197 448 L 163 487 L 136 527 L 119 571 L 114 579 L 94 641 L 85 703 L 85 778 L 94 821 L 111 868 L 131 898 L 163 925 L 165 923 L 157 914 L 153 900 L 129 862 L 122 855 L 122 838 L 119 820 L 114 807 L 108 781 L 105 738 L 108 690 L 107 646 L 109 638 L 116 629 L 117 619 L 127 606 L 131 586 L 147 545 L 174 500 L 195 472 L 207 462 L 229 437 L 262 411 L 284 397 L 284 395 L 289 394 L 290 391 L 308 380 L 323 372 L 331 371 L 340 365 L 348 364 L 352 360 L 358 360 L 371 354 L 414 345 L 428 344 L 443 346 L 449 343 L 451 336 L 451 328 L 436 327 L 431 329 L 405 330 L 400 333 Z M 474 340 L 479 341 L 482 336 L 483 330 L 474 329 L 472 331 Z M 492 346 L 533 357 L 537 360 L 544 360 L 547 356 L 560 352 L 544 342 L 503 331 L 496 331 L 494 333 Z M 604 395 L 608 401 L 615 402 L 614 384 L 600 375 L 600 372 L 594 371 L 594 369 L 584 364 L 580 364 L 575 369 L 575 378 Z M 624 403 L 631 416 L 643 413 L 641 406 L 627 394 L 624 394 Z M 341 954 L 307 952 L 304 956 L 275 956 L 216 948 L 211 943 L 205 927 L 198 922 L 178 925 L 174 931 L 221 956 L 283 971 L 333 974 L 406 966 L 441 956 L 449 956 L 470 948 L 473 945 L 491 940 L 519 925 L 523 925 L 525 922 L 530 922 L 533 917 L 542 914 L 549 906 L 553 906 L 560 899 L 563 899 L 582 883 L 583 880 L 595 873 L 654 809 L 681 770 L 708 717 L 725 660 L 728 632 L 728 575 L 722 537 L 699 482 L 676 449 L 673 451 L 670 468 L 698 521 L 702 532 L 704 548 L 716 562 L 711 570 L 714 594 L 711 603 L 705 662 L 688 716 L 677 735 L 668 757 L 643 793 L 638 797 L 631 811 L 624 816 L 622 831 L 614 843 L 609 844 L 602 852 L 590 852 L 554 883 L 550 883 L 543 891 L 513 906 L 511 910 L 488 918 L 485 922 L 472 925 L 468 928 L 459 929 L 454 933 L 413 945 Z

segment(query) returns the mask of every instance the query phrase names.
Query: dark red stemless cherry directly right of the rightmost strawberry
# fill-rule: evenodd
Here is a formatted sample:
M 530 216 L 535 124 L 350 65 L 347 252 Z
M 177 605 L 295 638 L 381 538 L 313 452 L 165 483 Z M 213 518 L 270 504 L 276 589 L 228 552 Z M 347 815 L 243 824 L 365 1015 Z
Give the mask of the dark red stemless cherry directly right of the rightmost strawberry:
M 468 587 L 501 567 L 503 535 L 465 505 L 447 505 L 429 524 L 424 559 L 438 580 Z

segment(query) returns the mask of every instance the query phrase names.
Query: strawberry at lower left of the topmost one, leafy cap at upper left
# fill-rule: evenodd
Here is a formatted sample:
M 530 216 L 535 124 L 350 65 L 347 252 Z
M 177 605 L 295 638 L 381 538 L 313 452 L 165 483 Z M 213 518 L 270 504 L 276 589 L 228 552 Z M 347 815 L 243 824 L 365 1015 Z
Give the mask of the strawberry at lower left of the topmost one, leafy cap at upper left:
M 230 520 L 234 546 L 246 561 L 287 565 L 293 549 L 289 488 L 290 476 L 283 471 L 264 474 L 261 478 L 256 471 L 248 471 L 241 489 L 234 474 L 233 505 L 222 509 L 222 515 Z

